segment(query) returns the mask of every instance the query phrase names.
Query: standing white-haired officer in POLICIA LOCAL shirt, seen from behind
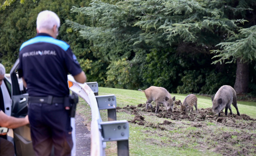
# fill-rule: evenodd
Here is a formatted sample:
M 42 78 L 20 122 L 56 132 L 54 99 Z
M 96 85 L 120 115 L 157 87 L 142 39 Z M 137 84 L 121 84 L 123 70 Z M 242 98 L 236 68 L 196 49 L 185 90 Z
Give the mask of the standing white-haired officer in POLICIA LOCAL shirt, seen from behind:
M 45 10 L 37 17 L 37 36 L 20 47 L 19 77 L 29 94 L 28 118 L 33 149 L 37 156 L 69 156 L 73 146 L 68 101 L 67 74 L 85 83 L 86 75 L 70 46 L 56 37 L 60 19 Z

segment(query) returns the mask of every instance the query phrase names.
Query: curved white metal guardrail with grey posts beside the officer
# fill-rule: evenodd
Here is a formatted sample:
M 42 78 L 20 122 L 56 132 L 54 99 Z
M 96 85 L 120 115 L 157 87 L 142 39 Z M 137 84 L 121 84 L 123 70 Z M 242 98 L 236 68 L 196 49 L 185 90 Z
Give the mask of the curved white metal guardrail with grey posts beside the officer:
M 129 156 L 129 124 L 126 120 L 116 121 L 116 96 L 98 95 L 97 82 L 80 84 L 68 75 L 69 89 L 83 98 L 91 107 L 91 156 L 104 156 L 106 142 L 117 141 L 117 154 Z M 102 122 L 99 110 L 108 110 L 107 122 Z

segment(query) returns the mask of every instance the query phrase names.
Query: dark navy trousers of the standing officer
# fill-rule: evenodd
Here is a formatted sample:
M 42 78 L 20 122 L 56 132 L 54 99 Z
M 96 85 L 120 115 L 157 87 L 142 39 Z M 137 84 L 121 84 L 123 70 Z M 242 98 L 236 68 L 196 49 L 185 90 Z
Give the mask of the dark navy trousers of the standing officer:
M 62 103 L 29 103 L 28 118 L 37 156 L 70 156 L 73 147 L 69 112 Z

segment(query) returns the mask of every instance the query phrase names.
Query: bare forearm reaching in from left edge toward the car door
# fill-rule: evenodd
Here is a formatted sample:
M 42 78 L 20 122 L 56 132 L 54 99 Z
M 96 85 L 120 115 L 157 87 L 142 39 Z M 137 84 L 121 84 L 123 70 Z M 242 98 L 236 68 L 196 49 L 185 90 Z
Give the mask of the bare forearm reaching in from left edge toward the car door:
M 25 118 L 15 118 L 4 114 L 2 110 L 0 111 L 0 121 L 0 126 L 7 128 L 17 128 L 29 124 L 28 116 Z

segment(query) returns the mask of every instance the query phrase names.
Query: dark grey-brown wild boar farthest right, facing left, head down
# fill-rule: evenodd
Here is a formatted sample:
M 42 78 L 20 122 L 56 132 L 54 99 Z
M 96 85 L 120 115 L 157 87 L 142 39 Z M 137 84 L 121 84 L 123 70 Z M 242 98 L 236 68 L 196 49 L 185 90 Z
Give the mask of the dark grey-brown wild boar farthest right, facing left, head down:
M 225 115 L 227 115 L 229 108 L 230 115 L 232 115 L 231 103 L 236 108 L 237 115 L 240 116 L 237 108 L 236 91 L 231 86 L 222 86 L 216 92 L 214 98 L 212 96 L 212 111 L 220 116 L 220 112 L 225 108 Z

